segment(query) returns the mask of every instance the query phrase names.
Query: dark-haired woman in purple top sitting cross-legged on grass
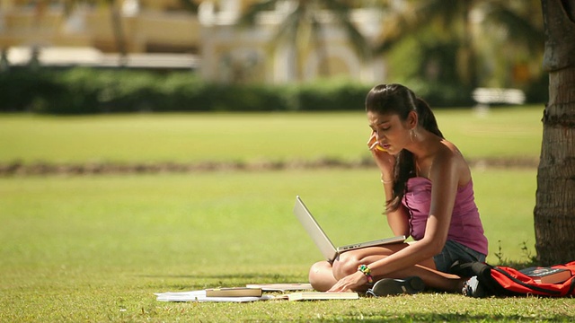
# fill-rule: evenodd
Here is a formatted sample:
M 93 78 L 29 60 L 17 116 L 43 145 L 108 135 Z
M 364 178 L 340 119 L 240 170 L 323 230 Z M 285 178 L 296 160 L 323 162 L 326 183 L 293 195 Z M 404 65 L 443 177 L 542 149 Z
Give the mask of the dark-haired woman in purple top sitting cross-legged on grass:
M 484 261 L 487 239 L 473 198 L 471 171 L 438 129 L 429 105 L 400 84 L 374 87 L 366 99 L 367 145 L 381 172 L 387 223 L 414 241 L 358 249 L 315 263 L 318 291 L 446 292 L 469 288 L 452 275 L 456 262 Z M 366 221 L 368 223 L 368 221 Z M 374 284 L 375 283 L 375 284 Z

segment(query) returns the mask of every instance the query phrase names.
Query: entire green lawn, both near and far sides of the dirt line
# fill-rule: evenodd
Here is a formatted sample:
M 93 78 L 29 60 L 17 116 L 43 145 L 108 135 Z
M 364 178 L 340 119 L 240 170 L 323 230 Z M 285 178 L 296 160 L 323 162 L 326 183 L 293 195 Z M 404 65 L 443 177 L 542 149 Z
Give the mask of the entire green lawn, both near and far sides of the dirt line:
M 536 158 L 542 109 L 441 110 L 438 121 L 472 158 Z M 367 135 L 362 113 L 2 115 L 0 162 L 354 160 L 367 153 Z M 535 252 L 535 174 L 473 168 L 492 264 L 527 261 Z M 344 244 L 391 235 L 380 186 L 375 168 L 2 178 L 0 322 L 575 319 L 575 299 L 434 292 L 358 301 L 155 301 L 154 292 L 305 282 L 320 254 L 292 214 L 295 196 Z

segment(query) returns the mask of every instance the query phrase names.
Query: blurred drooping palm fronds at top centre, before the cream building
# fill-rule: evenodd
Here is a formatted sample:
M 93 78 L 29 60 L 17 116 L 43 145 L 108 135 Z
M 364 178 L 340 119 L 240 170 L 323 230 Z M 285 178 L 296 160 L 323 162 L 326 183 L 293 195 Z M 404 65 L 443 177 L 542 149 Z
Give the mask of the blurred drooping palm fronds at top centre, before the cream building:
M 280 0 L 265 0 L 252 4 L 243 13 L 239 25 L 251 26 L 256 17 L 264 12 L 275 8 Z M 303 61 L 306 50 L 315 48 L 322 62 L 320 73 L 324 76 L 330 74 L 330 66 L 327 64 L 328 47 L 325 43 L 324 23 L 332 20 L 340 26 L 360 58 L 370 57 L 371 51 L 367 40 L 350 21 L 349 12 L 351 5 L 345 0 L 295 0 L 288 2 L 293 5 L 292 10 L 279 24 L 276 35 L 272 38 L 270 48 L 272 50 L 280 44 L 291 44 L 296 54 L 297 79 L 303 79 Z

